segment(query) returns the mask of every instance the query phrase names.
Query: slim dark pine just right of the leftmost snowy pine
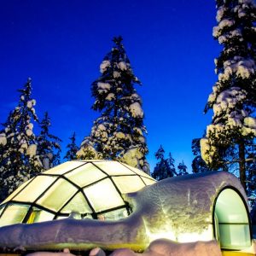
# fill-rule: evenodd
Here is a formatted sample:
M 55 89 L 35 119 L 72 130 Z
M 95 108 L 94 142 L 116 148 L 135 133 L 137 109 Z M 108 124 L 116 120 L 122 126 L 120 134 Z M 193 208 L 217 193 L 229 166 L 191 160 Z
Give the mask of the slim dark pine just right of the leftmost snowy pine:
M 48 112 L 40 122 L 40 134 L 37 137 L 38 155 L 43 164 L 44 170 L 48 170 L 61 163 L 61 139 L 49 133 L 50 119 Z

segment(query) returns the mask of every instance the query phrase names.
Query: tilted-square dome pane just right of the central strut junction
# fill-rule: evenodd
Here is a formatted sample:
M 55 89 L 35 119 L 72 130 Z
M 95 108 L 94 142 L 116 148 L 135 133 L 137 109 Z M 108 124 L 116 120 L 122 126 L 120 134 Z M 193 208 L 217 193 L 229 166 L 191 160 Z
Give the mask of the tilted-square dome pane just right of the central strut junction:
M 124 205 L 124 201 L 109 178 L 84 189 L 91 206 L 96 212 Z

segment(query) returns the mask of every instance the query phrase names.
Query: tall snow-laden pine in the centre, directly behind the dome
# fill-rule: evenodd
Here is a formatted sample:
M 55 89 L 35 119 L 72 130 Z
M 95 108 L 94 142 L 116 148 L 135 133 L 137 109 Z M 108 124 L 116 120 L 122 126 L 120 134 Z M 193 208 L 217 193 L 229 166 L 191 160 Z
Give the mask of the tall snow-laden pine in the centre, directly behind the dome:
M 91 85 L 96 98 L 92 108 L 101 116 L 90 137 L 85 137 L 78 157 L 121 160 L 149 172 L 142 99 L 134 88 L 141 82 L 133 74 L 122 38 L 113 38 L 113 43 L 100 66 L 102 75 Z

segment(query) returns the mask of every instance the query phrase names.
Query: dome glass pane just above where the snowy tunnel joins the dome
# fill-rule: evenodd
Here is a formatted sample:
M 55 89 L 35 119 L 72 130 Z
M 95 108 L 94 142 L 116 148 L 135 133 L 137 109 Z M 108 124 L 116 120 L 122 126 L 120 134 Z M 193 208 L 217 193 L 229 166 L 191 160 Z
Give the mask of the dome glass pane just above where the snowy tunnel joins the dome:
M 113 177 L 114 183 L 122 194 L 136 192 L 145 187 L 142 179 L 136 176 Z

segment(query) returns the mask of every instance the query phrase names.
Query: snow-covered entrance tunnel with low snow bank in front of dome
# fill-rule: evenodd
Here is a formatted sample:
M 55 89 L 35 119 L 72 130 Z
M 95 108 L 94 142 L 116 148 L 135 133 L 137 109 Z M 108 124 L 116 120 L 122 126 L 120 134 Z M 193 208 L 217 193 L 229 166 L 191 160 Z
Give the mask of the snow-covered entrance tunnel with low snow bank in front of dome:
M 128 218 L 103 222 L 66 218 L 8 225 L 0 228 L 0 247 L 142 250 L 158 238 L 210 241 L 214 204 L 227 188 L 237 191 L 246 201 L 241 183 L 228 172 L 167 178 L 126 195 L 133 209 Z

